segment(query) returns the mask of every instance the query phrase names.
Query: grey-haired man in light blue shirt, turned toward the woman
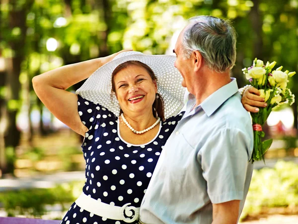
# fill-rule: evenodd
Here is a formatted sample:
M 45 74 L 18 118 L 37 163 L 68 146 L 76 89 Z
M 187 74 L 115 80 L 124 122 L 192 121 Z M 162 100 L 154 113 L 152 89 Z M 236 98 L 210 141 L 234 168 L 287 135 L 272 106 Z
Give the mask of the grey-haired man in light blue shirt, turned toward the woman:
M 174 52 L 187 109 L 171 134 L 140 210 L 145 224 L 236 224 L 253 167 L 253 130 L 230 70 L 236 33 L 213 16 L 191 18 Z

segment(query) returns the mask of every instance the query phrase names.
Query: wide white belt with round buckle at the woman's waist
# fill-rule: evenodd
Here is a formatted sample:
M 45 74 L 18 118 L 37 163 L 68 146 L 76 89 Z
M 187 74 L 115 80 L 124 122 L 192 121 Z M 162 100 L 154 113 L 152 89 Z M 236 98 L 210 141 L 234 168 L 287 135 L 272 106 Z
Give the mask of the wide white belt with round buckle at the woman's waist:
M 112 206 L 103 202 L 99 202 L 82 193 L 78 199 L 75 200 L 75 204 L 89 213 L 93 213 L 97 216 L 110 220 L 122 220 L 126 223 L 132 223 L 139 219 L 140 208 L 129 206 L 131 203 L 127 203 L 122 207 Z

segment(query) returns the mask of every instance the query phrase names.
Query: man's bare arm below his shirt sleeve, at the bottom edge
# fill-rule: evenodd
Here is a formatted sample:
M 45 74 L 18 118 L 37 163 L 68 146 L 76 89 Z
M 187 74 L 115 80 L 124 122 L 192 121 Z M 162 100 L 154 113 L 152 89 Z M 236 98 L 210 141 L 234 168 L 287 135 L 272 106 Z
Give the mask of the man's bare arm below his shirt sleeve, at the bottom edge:
M 237 224 L 239 215 L 239 200 L 213 204 L 212 224 Z

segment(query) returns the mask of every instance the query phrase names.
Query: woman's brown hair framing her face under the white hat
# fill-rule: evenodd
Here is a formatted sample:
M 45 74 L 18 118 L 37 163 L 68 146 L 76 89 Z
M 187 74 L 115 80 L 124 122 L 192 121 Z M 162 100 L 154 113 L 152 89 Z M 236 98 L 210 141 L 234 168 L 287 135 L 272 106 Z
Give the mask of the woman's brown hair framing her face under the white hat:
M 144 64 L 143 62 L 140 62 L 140 61 L 127 61 L 127 62 L 124 62 L 120 65 L 118 65 L 113 73 L 112 73 L 112 92 L 116 93 L 116 88 L 115 88 L 115 83 L 114 83 L 114 77 L 115 75 L 120 72 L 122 69 L 125 69 L 131 65 L 136 65 L 136 66 L 141 66 L 143 67 L 144 69 L 146 69 L 146 71 L 148 72 L 149 76 L 151 77 L 152 81 L 155 81 L 157 82 L 157 78 L 154 74 L 154 72 L 152 71 L 152 69 Z M 153 112 L 153 116 L 156 118 L 157 116 L 160 117 L 161 120 L 165 120 L 164 119 L 164 106 L 163 106 L 163 99 L 162 97 L 160 96 L 159 93 L 156 94 L 157 99 L 155 98 L 154 100 L 154 103 L 152 105 L 152 112 Z M 122 109 L 120 109 L 120 114 L 122 113 Z M 120 115 L 119 114 L 119 115 Z

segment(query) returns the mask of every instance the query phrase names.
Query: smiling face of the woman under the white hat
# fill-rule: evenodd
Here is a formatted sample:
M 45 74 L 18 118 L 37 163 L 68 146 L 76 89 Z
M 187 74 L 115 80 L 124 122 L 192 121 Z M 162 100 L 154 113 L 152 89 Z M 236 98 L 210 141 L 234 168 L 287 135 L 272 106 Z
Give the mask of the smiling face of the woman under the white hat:
M 147 70 L 129 65 L 114 76 L 116 97 L 124 113 L 152 113 L 157 85 Z

